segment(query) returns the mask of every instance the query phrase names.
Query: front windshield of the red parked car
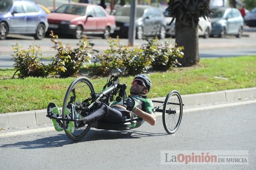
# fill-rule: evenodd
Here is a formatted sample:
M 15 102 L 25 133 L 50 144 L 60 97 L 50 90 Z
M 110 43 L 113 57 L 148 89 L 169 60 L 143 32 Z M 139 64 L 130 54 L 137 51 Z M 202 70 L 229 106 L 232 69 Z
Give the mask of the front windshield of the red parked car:
M 69 13 L 69 14 L 75 14 L 75 15 L 85 15 L 85 11 L 86 11 L 86 6 L 64 4 L 64 5 L 61 5 L 58 9 L 56 9 L 54 12 Z

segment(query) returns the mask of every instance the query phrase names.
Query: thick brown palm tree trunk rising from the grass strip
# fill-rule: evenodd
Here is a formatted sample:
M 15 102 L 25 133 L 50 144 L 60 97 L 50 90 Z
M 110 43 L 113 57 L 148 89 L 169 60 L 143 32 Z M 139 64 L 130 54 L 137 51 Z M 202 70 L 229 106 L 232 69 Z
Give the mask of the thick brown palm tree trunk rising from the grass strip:
M 182 66 L 191 66 L 200 61 L 198 49 L 198 24 L 194 28 L 192 26 L 179 26 L 175 23 L 175 36 L 177 46 L 183 46 L 184 57 L 178 61 Z

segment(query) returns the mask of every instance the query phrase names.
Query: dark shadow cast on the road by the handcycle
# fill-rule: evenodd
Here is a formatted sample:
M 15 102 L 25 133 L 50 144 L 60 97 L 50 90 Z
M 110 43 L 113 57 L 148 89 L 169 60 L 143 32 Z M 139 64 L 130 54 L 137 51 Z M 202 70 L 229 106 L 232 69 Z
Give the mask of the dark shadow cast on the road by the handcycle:
M 114 139 L 140 139 L 144 137 L 163 136 L 166 133 L 149 133 L 143 131 L 108 131 L 108 130 L 90 130 L 84 138 L 78 142 L 89 142 L 95 140 L 114 140 Z M 62 147 L 64 145 L 78 143 L 74 142 L 66 136 L 66 134 L 58 134 L 56 136 L 38 135 L 36 140 L 17 142 L 13 144 L 3 144 L 0 148 L 18 147 L 20 149 L 37 149 L 37 148 L 53 148 Z

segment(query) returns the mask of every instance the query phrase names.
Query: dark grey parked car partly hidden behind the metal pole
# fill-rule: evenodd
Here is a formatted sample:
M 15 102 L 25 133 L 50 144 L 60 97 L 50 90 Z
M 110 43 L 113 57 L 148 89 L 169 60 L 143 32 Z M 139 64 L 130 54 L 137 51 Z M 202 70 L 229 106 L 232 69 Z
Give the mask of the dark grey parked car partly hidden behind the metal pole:
M 116 30 L 114 34 L 128 36 L 131 5 L 124 5 L 116 10 Z M 144 35 L 157 34 L 160 39 L 165 38 L 165 18 L 160 9 L 153 6 L 136 5 L 136 38 Z

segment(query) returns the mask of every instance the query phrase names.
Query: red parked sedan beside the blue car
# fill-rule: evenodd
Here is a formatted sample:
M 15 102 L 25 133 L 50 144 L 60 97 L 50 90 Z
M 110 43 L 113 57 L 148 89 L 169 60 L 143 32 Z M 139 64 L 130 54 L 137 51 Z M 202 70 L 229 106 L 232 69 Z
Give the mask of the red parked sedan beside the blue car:
M 101 6 L 93 4 L 63 4 L 47 17 L 48 32 L 70 34 L 76 39 L 80 39 L 82 34 L 101 34 L 102 38 L 109 38 L 116 28 L 114 17 Z

